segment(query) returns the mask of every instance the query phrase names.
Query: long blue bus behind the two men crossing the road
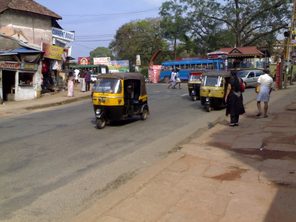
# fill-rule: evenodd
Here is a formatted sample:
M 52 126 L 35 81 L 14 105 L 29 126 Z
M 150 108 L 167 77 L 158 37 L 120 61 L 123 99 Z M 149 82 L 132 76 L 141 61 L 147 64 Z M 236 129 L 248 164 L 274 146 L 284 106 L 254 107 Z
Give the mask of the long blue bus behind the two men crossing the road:
M 165 61 L 161 65 L 160 80 L 163 80 L 164 83 L 170 83 L 170 74 L 172 69 L 176 68 L 180 70 L 181 80 L 188 80 L 189 71 L 192 70 L 225 70 L 224 60 L 183 58 L 177 61 Z

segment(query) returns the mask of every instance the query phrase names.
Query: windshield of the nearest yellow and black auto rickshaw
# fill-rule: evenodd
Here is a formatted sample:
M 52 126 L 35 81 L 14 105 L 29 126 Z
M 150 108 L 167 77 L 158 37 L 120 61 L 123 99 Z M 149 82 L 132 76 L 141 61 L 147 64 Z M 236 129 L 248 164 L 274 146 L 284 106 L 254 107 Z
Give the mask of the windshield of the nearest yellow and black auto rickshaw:
M 97 93 L 121 93 L 122 91 L 120 79 L 99 78 L 96 81 L 94 92 Z

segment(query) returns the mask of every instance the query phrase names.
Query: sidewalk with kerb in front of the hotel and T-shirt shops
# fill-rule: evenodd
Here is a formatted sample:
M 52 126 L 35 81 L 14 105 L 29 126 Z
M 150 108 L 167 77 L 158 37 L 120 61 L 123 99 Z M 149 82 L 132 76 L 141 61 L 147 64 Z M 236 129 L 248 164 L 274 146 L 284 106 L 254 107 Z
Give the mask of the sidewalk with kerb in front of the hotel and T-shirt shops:
M 43 94 L 43 97 L 39 99 L 31 99 L 20 102 L 5 101 L 4 105 L 0 104 L 0 116 L 19 115 L 30 112 L 30 110 L 58 106 L 82 99 L 91 99 L 91 91 L 81 92 L 80 85 L 78 84 L 76 86 L 77 87 L 74 87 L 73 97 L 67 96 L 68 91 L 61 91 L 55 94 Z

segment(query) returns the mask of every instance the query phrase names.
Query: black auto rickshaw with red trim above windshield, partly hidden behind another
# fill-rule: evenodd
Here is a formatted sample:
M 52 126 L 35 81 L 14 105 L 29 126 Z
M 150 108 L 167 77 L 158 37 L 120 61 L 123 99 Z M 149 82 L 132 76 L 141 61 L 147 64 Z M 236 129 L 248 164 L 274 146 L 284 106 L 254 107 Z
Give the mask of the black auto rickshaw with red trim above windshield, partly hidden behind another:
M 201 75 L 204 71 L 190 71 L 188 76 L 188 92 L 189 96 L 191 96 L 192 101 L 196 99 L 200 99 L 200 83 L 201 83 Z

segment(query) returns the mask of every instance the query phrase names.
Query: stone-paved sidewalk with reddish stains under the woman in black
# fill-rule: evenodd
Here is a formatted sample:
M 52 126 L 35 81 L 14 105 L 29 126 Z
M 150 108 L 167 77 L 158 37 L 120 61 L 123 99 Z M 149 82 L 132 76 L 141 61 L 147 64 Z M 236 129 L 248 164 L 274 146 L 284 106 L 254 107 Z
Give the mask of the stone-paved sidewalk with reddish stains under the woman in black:
M 273 91 L 268 118 L 249 103 L 70 221 L 295 222 L 295 93 Z

